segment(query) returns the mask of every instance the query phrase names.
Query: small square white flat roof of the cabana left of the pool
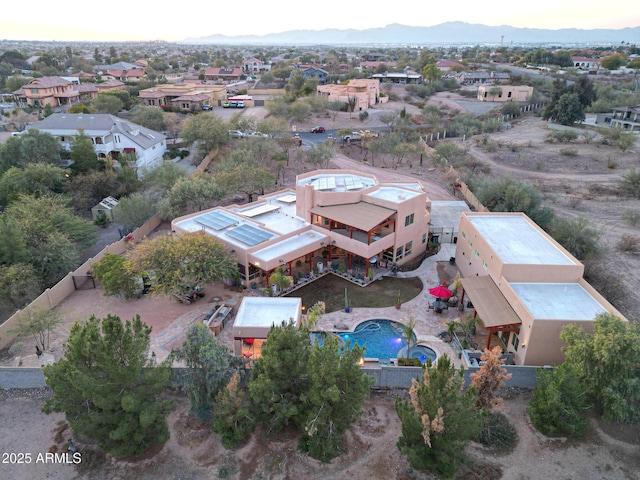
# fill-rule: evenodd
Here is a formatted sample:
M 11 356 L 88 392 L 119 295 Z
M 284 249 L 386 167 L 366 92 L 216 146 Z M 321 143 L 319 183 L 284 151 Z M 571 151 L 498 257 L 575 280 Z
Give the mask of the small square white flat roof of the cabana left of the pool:
M 271 328 L 282 322 L 297 322 L 302 312 L 298 297 L 244 297 L 233 327 Z

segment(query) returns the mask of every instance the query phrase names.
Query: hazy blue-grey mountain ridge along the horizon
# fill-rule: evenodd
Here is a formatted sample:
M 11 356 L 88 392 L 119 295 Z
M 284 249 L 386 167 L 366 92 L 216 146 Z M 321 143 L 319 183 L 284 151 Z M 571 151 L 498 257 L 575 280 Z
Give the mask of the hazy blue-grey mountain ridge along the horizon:
M 494 43 L 582 43 L 640 44 L 640 26 L 622 29 L 518 28 L 509 25 L 490 27 L 465 22 L 447 22 L 432 27 L 391 24 L 382 28 L 289 30 L 267 35 L 228 36 L 214 34 L 185 39 L 182 43 L 248 45 L 358 45 L 358 44 L 465 44 Z

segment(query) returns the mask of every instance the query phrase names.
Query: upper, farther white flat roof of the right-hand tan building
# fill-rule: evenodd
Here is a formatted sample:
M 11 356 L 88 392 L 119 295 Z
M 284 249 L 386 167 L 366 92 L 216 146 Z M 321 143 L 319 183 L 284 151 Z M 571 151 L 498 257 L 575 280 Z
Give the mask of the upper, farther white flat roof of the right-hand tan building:
M 504 263 L 575 265 L 572 258 L 518 215 L 468 215 L 487 243 Z M 472 239 L 467 239 L 471 240 Z

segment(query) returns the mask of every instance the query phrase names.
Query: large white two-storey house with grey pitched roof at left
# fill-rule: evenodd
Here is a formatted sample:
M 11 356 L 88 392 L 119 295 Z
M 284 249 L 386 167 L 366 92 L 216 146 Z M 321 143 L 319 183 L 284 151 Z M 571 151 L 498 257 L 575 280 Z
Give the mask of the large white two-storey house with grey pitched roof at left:
M 102 113 L 54 113 L 29 125 L 27 130 L 32 128 L 58 138 L 67 150 L 71 150 L 78 131 L 83 130 L 93 142 L 99 158 L 110 156 L 117 160 L 123 153 L 135 154 L 137 160 L 131 166 L 139 172 L 161 165 L 167 150 L 166 137 L 162 133 Z

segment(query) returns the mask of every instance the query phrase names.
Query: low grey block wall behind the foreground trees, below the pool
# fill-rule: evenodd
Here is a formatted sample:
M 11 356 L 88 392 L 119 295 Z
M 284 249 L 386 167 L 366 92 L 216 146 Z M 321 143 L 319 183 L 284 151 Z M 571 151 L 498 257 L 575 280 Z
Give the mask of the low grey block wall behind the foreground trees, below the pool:
M 471 383 L 470 375 L 480 367 L 469 367 L 464 371 L 465 384 Z M 533 388 L 537 385 L 536 372 L 540 367 L 519 367 L 507 365 L 504 367 L 512 376 L 505 386 Z M 411 380 L 422 377 L 419 367 L 391 367 L 364 368 L 364 372 L 373 378 L 374 388 L 409 388 Z M 184 378 L 184 369 L 173 369 L 173 383 L 179 384 Z M 45 387 L 44 375 L 39 368 L 0 367 L 0 388 L 40 388 Z

